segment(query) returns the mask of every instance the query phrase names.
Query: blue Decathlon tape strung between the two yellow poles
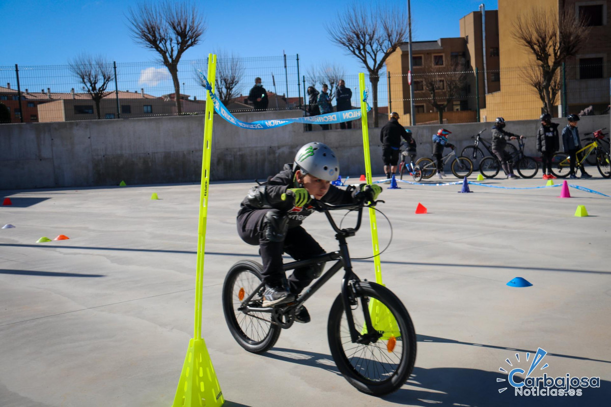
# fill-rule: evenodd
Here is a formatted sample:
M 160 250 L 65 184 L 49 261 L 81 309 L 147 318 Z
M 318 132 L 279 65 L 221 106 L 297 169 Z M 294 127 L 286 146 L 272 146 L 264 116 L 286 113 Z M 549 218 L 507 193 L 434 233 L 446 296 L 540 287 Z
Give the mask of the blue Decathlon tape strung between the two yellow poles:
M 208 91 L 210 91 L 210 98 L 214 103 L 214 111 L 219 113 L 219 115 L 225 120 L 229 121 L 229 123 L 234 126 L 238 126 L 244 129 L 253 129 L 253 130 L 264 130 L 264 129 L 273 129 L 280 126 L 286 126 L 291 123 L 309 123 L 309 124 L 333 124 L 333 123 L 343 123 L 345 121 L 353 121 L 360 119 L 360 109 L 354 110 L 342 110 L 340 112 L 333 113 L 324 113 L 324 115 L 317 116 L 309 116 L 309 117 L 295 117 L 288 119 L 279 119 L 279 120 L 257 120 L 248 123 L 246 121 L 238 120 L 232 113 L 227 110 L 224 104 L 214 95 L 212 92 L 212 86 L 208 79 L 204 76 L 202 71 L 197 71 L 199 75 L 202 77 L 202 85 Z M 367 104 L 367 95 L 368 92 L 365 90 L 363 92 L 363 102 Z M 371 110 L 371 106 L 367 104 L 367 112 Z

